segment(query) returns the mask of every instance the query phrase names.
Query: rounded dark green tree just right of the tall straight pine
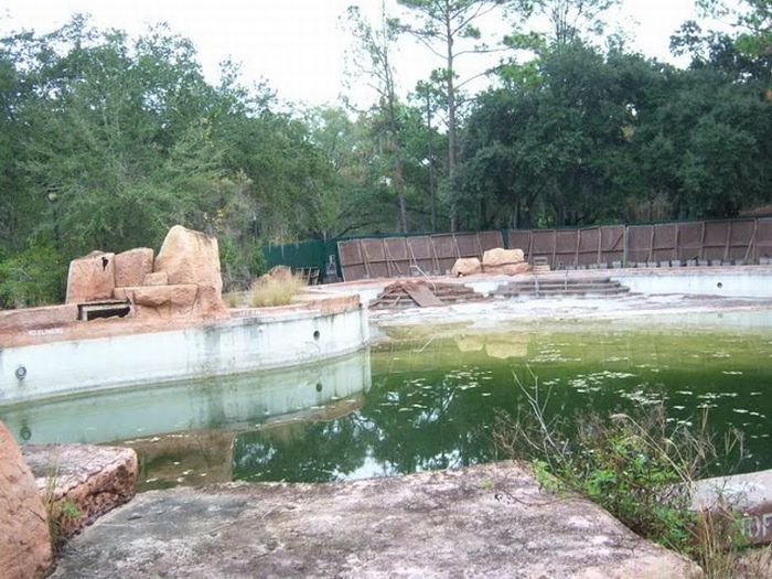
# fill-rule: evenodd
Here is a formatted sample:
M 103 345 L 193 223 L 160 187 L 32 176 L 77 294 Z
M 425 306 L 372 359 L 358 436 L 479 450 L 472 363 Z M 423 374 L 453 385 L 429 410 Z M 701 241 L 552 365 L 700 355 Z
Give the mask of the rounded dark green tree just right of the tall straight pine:
M 508 71 L 510 86 L 484 94 L 470 115 L 461 181 L 480 226 L 619 217 L 634 194 L 621 183 L 633 164 L 634 107 L 619 71 L 575 42 L 544 54 L 533 74 L 527 64 L 519 77 Z

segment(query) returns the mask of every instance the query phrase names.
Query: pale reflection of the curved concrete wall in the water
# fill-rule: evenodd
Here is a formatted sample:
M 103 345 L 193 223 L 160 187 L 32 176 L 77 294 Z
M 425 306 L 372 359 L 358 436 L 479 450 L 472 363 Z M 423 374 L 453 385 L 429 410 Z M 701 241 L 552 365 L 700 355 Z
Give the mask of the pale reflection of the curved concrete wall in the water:
M 314 406 L 369 387 L 369 353 L 363 350 L 291 368 L 14 405 L 0 408 L 0 419 L 25 443 L 100 443 L 213 427 L 251 428 L 272 417 L 304 416 Z

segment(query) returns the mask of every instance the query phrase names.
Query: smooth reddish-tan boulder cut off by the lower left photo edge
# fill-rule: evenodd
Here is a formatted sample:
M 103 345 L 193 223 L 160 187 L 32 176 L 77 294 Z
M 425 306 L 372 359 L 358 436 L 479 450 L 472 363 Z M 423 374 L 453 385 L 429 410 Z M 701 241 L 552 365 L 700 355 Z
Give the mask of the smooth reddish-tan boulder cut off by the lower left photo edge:
M 0 422 L 0 576 L 42 576 L 51 562 L 43 501 L 15 440 Z

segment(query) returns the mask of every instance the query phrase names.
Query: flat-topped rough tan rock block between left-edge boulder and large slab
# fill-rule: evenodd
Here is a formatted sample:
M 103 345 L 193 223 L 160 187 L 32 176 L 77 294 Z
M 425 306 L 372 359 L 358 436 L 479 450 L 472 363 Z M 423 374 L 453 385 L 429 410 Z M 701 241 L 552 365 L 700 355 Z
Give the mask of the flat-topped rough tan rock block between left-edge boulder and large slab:
M 37 492 L 51 501 L 58 538 L 79 530 L 136 493 L 137 453 L 92 444 L 26 444 Z

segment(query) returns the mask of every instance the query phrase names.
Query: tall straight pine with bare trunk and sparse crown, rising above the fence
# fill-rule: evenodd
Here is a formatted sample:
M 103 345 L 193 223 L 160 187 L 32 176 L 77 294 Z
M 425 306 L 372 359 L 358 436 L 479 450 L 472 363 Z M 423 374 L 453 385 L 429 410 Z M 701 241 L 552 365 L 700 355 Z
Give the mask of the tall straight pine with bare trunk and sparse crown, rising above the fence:
M 467 81 L 457 83 L 457 62 L 467 54 L 489 52 L 476 23 L 486 14 L 512 4 L 511 0 L 398 0 L 399 4 L 417 14 L 416 23 L 403 24 L 403 30 L 417 39 L 427 50 L 441 58 L 444 66 L 433 79 L 444 88 L 448 122 L 448 186 L 450 191 L 450 228 L 458 226 L 455 194 L 453 193 L 458 154 L 458 90 Z M 463 42 L 468 41 L 468 42 Z M 471 44 L 470 42 L 471 41 Z

